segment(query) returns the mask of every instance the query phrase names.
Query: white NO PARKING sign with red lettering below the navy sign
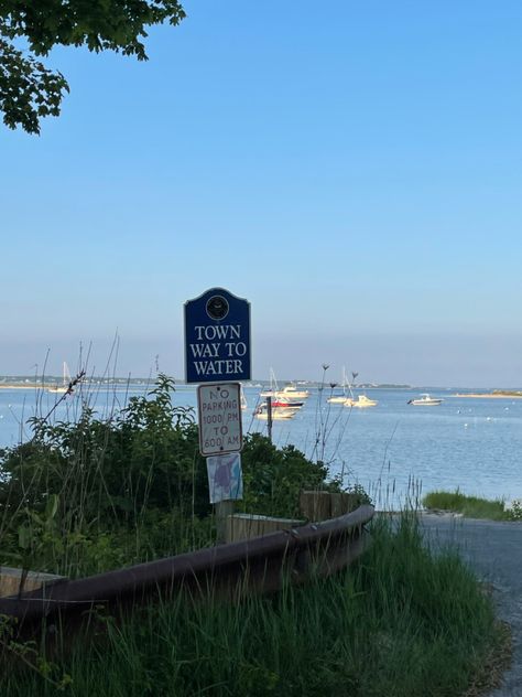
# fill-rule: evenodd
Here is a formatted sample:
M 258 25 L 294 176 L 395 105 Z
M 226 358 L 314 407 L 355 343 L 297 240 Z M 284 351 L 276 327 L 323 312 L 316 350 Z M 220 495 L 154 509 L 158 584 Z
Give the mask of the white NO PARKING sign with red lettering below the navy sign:
M 205 458 L 239 452 L 242 448 L 241 386 L 239 383 L 199 385 L 199 452 Z

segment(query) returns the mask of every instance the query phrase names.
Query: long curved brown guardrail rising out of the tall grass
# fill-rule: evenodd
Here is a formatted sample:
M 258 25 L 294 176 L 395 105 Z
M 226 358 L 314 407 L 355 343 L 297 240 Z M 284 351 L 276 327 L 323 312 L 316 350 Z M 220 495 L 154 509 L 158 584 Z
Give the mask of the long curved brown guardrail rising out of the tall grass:
M 218 545 L 189 554 L 108 571 L 84 579 L 0 598 L 0 614 L 21 628 L 47 620 L 78 616 L 94 605 L 135 605 L 172 597 L 182 588 L 192 592 L 225 593 L 279 589 L 285 577 L 304 582 L 312 573 L 328 576 L 356 559 L 369 537 L 365 524 L 373 507 L 363 505 L 346 515 L 252 539 Z

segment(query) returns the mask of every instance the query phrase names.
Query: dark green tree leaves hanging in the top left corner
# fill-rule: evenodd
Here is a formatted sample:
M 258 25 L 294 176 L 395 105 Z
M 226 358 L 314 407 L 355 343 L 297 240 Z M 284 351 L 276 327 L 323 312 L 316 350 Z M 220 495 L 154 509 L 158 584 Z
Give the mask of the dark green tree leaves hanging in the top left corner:
M 4 0 L 0 4 L 0 110 L 9 128 L 40 133 L 40 119 L 58 116 L 68 92 L 65 77 L 34 56 L 56 46 L 87 46 L 146 61 L 146 30 L 185 11 L 177 0 Z M 17 44 L 12 42 L 15 41 Z M 19 49 L 26 42 L 29 52 Z

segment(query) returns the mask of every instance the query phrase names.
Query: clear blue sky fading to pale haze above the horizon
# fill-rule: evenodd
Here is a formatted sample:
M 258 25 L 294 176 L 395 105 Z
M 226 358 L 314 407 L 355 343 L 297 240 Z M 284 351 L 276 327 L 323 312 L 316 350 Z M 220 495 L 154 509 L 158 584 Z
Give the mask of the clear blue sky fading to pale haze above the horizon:
M 522 2 L 185 3 L 148 63 L 77 49 L 0 127 L 0 374 L 183 375 L 185 300 L 252 304 L 253 374 L 522 385 Z

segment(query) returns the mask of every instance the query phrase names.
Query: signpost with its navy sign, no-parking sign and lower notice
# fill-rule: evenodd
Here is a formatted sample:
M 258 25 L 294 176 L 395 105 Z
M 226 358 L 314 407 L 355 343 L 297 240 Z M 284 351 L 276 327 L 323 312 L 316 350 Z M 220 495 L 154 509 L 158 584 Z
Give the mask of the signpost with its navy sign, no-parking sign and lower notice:
M 207 459 L 218 541 L 224 541 L 233 498 L 242 497 L 239 380 L 251 379 L 250 303 L 225 288 L 210 288 L 187 300 L 184 324 L 185 380 L 199 384 L 199 452 Z

